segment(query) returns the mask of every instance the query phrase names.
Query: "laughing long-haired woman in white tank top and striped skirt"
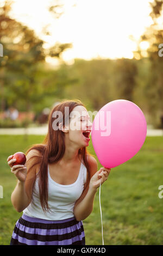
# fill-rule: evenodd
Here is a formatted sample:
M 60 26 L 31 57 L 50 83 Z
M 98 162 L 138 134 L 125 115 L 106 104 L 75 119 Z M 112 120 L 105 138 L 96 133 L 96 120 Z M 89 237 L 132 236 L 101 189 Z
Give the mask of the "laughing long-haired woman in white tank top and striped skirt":
M 10 245 L 85 245 L 82 220 L 91 214 L 97 188 L 110 173 L 104 167 L 97 172 L 96 159 L 86 151 L 89 119 L 81 101 L 64 100 L 49 114 L 43 143 L 27 150 L 26 164 L 14 166 L 8 157 L 17 177 L 11 202 L 23 211 Z

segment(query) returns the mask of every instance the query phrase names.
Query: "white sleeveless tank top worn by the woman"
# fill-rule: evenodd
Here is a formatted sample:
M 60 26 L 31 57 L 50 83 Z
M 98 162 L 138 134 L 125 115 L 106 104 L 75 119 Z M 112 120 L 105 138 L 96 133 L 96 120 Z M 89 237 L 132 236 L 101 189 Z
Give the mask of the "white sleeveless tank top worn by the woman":
M 39 177 L 36 176 L 32 201 L 23 210 L 23 214 L 43 220 L 64 220 L 74 216 L 73 208 L 76 200 L 81 196 L 86 182 L 86 167 L 81 162 L 77 180 L 70 185 L 61 185 L 55 182 L 48 167 L 48 205 L 51 212 L 43 212 L 39 198 Z

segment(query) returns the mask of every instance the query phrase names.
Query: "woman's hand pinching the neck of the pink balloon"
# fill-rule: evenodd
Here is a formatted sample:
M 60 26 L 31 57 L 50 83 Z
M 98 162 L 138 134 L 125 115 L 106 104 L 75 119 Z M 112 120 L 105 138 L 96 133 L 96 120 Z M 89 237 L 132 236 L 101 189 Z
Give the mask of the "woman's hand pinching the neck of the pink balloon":
M 105 168 L 105 167 L 100 168 L 98 172 L 96 172 L 92 176 L 89 187 L 93 189 L 97 189 L 100 186 L 100 182 L 102 185 L 108 179 L 110 171 L 111 171 L 110 168 Z

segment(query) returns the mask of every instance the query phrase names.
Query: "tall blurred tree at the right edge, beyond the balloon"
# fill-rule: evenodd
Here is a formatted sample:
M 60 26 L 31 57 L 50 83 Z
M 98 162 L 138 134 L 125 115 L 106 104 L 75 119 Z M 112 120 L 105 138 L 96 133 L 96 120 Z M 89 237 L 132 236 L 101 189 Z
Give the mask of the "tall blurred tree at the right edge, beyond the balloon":
M 163 58 L 159 56 L 159 46 L 163 43 L 163 1 L 154 0 L 150 4 L 152 8 L 150 16 L 152 17 L 153 24 L 146 29 L 145 33 L 140 38 L 140 43 L 146 41 L 149 46 L 147 51 L 141 51 L 139 48 L 139 51 L 135 52 L 135 56 L 139 54 L 141 59 L 146 56 L 146 58 L 143 59 L 144 70 L 140 70 L 141 74 L 145 75 L 145 77 L 141 75 L 137 81 L 139 81 L 141 85 L 143 95 L 146 94 L 145 105 L 148 115 L 151 117 L 151 123 L 155 123 L 160 127 L 160 115 L 163 113 Z

